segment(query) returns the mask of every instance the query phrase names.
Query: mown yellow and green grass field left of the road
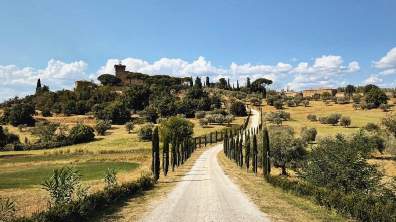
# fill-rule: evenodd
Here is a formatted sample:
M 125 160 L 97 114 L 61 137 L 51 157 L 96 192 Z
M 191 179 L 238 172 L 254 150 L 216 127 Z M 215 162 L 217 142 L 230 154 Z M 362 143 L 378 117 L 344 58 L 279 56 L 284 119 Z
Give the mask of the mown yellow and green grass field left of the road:
M 232 125 L 240 125 L 244 119 L 236 118 Z M 93 124 L 93 121 L 84 116 L 50 117 L 47 120 L 71 126 L 76 120 Z M 189 120 L 195 124 L 194 136 L 226 127 L 213 124 L 201 128 L 196 119 Z M 117 170 L 119 183 L 137 179 L 142 171 L 149 171 L 151 165 L 151 142 L 140 141 L 136 133 L 141 126 L 143 124 L 135 125 L 133 132 L 129 134 L 124 126 L 113 125 L 106 135 L 95 136 L 95 140 L 89 143 L 49 150 L 0 152 L 0 197 L 17 200 L 18 208 L 21 209 L 17 211 L 17 215 L 29 215 L 43 210 L 47 205 L 47 194 L 40 188 L 41 181 L 49 179 L 54 168 L 68 164 L 76 164 L 83 175 L 81 183 L 90 186 L 91 192 L 103 188 L 104 171 L 108 168 Z M 25 137 L 34 139 L 27 129 L 19 132 L 10 125 L 4 127 L 18 134 L 22 142 Z

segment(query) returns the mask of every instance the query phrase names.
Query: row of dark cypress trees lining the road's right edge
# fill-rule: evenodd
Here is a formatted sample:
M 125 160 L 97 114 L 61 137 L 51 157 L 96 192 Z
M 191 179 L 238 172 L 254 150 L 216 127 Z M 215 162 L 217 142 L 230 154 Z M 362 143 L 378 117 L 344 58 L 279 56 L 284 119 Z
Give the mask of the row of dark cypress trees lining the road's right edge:
M 252 170 L 254 175 L 257 175 L 258 171 L 258 163 L 261 161 L 263 167 L 263 174 L 268 174 L 271 172 L 270 165 L 270 141 L 268 138 L 268 129 L 266 125 L 263 125 L 262 120 L 262 109 L 261 111 L 261 124 L 257 128 L 252 128 L 250 130 L 246 129 L 247 124 L 249 122 L 248 116 L 247 120 L 244 123 L 244 127 L 241 128 L 238 132 L 228 131 L 225 132 L 224 136 L 224 153 L 225 155 L 235 161 L 235 163 L 243 168 L 243 164 L 245 164 L 246 172 L 249 170 L 250 164 L 252 164 Z M 257 144 L 257 135 L 262 134 L 263 143 L 258 147 Z M 242 147 L 243 138 L 245 138 L 244 146 Z M 245 156 L 243 156 L 243 148 Z M 262 158 L 261 160 L 258 158 L 258 149 L 261 149 Z M 251 160 L 251 161 L 250 161 Z

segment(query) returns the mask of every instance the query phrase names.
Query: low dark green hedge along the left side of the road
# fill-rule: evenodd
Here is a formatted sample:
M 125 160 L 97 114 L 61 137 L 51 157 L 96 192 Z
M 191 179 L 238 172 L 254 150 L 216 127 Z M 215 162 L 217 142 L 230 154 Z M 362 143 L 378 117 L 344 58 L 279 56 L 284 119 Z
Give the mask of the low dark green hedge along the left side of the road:
M 18 221 L 86 221 L 97 216 L 98 212 L 108 208 L 119 199 L 128 198 L 154 184 L 151 175 L 143 175 L 137 181 L 124 183 L 88 195 L 86 199 L 53 206 L 46 211 L 34 213 L 31 217 L 18 218 Z

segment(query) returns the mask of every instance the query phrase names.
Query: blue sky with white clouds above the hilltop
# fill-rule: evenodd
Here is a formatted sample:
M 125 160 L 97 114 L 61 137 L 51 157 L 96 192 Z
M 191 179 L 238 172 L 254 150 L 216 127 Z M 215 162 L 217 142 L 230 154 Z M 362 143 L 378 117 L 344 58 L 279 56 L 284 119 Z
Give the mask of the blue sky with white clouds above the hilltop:
M 0 0 L 0 100 L 128 71 L 396 87 L 396 1 Z

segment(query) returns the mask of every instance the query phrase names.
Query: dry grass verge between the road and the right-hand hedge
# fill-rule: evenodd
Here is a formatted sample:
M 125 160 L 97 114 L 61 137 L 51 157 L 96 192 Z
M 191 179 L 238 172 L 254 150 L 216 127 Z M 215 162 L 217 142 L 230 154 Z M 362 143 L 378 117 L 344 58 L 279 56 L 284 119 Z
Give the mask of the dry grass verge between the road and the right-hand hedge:
M 239 169 L 223 152 L 217 156 L 220 166 L 230 179 L 245 192 L 272 221 L 347 221 L 336 212 L 313 201 L 282 191 L 266 183 L 249 170 Z

